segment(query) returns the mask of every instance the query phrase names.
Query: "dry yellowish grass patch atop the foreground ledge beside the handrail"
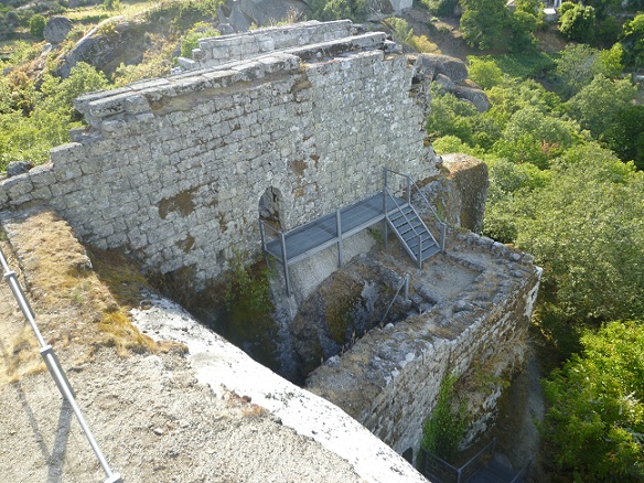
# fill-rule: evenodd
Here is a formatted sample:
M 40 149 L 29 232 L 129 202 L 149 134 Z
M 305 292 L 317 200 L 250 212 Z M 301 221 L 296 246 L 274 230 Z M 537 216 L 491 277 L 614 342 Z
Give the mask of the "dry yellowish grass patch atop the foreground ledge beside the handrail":
M 138 307 L 141 290 L 149 288 L 138 268 L 122 256 L 93 250 L 90 256 L 69 226 L 55 213 L 39 210 L 9 225 L 9 238 L 24 277 L 25 296 L 36 323 L 54 350 L 73 352 L 76 363 L 90 359 L 101 346 L 115 347 L 121 356 L 130 352 L 185 351 L 174 343 L 155 343 L 131 323 L 129 310 Z M 6 254 L 11 254 L 4 244 Z M 26 283 L 24 283 L 26 281 Z M 0 315 L 0 354 L 4 371 L 0 384 L 43 371 L 31 328 L 9 288 L 3 291 Z

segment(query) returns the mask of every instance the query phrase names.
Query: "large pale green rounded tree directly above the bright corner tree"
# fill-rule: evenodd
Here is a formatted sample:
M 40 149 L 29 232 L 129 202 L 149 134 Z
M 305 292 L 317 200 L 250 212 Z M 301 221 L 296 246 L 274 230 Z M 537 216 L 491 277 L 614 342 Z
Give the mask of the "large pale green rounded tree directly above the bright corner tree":
M 644 173 L 588 142 L 552 167 L 546 187 L 523 196 L 516 244 L 544 267 L 561 320 L 644 313 Z

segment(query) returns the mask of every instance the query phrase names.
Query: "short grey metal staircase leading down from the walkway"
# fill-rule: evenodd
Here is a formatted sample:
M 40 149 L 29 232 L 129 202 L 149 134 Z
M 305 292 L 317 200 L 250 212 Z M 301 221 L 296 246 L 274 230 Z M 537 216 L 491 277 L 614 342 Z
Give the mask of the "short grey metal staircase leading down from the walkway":
M 388 214 L 387 224 L 419 268 L 422 268 L 425 260 L 441 251 L 438 242 L 409 203 L 398 205 L 394 213 Z

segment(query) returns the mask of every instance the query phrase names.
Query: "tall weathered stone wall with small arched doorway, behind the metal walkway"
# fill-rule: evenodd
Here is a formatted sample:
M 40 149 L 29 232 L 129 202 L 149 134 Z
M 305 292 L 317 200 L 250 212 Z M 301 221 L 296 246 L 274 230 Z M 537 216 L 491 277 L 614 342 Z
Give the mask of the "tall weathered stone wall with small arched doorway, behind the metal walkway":
M 385 167 L 436 174 L 415 60 L 352 39 L 83 96 L 90 127 L 3 181 L 0 207 L 50 203 L 85 242 L 198 287 L 259 248 L 267 189 L 288 229 L 376 192 Z

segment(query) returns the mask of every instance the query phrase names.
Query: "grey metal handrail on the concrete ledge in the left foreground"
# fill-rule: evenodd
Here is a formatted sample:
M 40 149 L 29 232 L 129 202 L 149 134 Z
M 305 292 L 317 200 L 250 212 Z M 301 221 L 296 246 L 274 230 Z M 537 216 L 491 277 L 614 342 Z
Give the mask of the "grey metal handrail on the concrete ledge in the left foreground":
M 78 408 L 78 405 L 76 404 L 76 399 L 74 397 L 74 391 L 72 390 L 69 382 L 67 380 L 67 377 L 65 376 L 65 373 L 64 373 L 63 368 L 61 367 L 61 364 L 58 363 L 58 359 L 57 359 L 56 355 L 54 354 L 52 346 L 45 344 L 45 340 L 43 339 L 43 336 L 37 328 L 37 324 L 35 323 L 33 311 L 31 310 L 31 307 L 29 305 L 29 302 L 26 301 L 24 293 L 22 292 L 22 288 L 20 287 L 20 283 L 18 282 L 18 279 L 15 277 L 15 272 L 9 268 L 9 264 L 7 262 L 7 258 L 4 257 L 4 253 L 2 251 L 1 248 L 0 248 L 0 262 L 2 264 L 2 269 L 4 270 L 4 279 L 7 280 L 7 283 L 9 285 L 9 287 L 11 288 L 11 291 L 13 292 L 13 297 L 15 298 L 15 301 L 18 302 L 20 310 L 22 310 L 24 318 L 26 319 L 26 321 L 31 325 L 31 329 L 33 330 L 35 337 L 37 339 L 39 345 L 41 346 L 40 354 L 41 354 L 42 358 L 44 359 L 45 365 L 47 366 L 47 369 L 49 369 L 52 378 L 56 383 L 56 386 L 58 387 L 58 390 L 61 391 L 62 396 L 69 402 L 72 410 L 76 415 L 76 418 L 78 418 L 78 422 L 80 423 L 80 428 L 83 428 L 83 431 L 85 432 L 85 436 L 87 437 L 87 441 L 89 442 L 89 446 L 94 450 L 94 453 L 96 454 L 96 458 L 98 459 L 98 462 L 100 463 L 100 465 L 103 466 L 103 470 L 105 471 L 105 474 L 107 476 L 107 480 L 105 480 L 105 483 L 122 483 L 120 474 L 114 473 L 111 471 L 107 460 L 105 459 L 105 455 L 100 451 L 100 448 L 98 447 L 98 443 L 96 442 L 96 439 L 94 438 L 94 434 L 92 434 L 92 430 L 87 426 L 87 422 L 85 421 L 85 418 L 83 417 L 83 412 L 80 412 L 80 408 Z

